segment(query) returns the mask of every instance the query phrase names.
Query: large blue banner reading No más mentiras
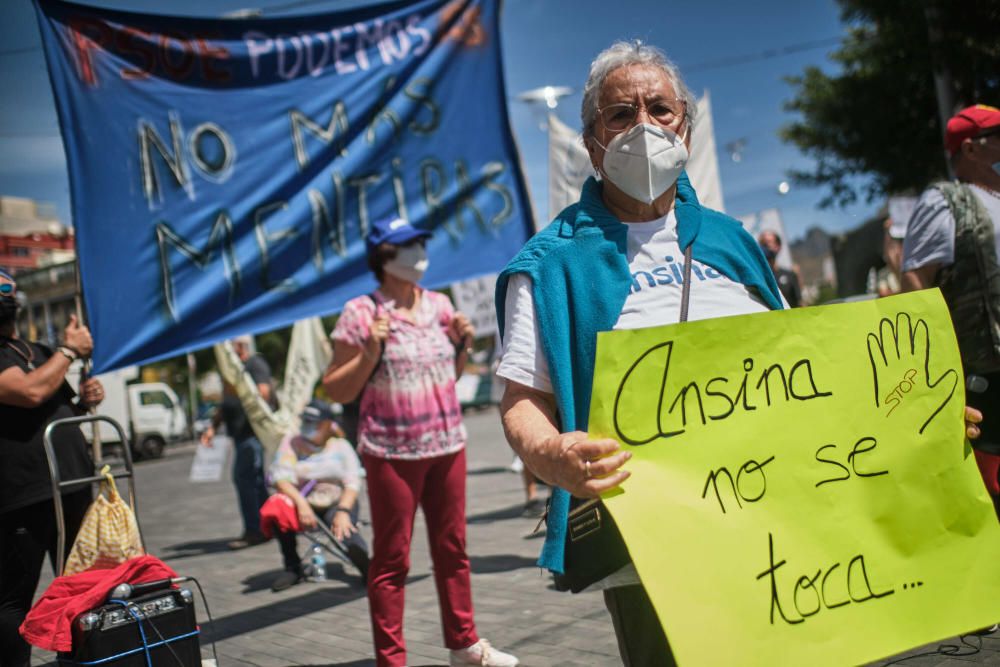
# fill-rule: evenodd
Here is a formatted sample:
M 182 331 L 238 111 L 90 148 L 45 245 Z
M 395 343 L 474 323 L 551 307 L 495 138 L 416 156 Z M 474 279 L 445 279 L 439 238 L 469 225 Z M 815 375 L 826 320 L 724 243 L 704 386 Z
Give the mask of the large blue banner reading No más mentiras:
M 38 0 L 95 371 L 337 312 L 369 224 L 434 232 L 425 283 L 496 272 L 533 228 L 498 0 L 274 19 Z

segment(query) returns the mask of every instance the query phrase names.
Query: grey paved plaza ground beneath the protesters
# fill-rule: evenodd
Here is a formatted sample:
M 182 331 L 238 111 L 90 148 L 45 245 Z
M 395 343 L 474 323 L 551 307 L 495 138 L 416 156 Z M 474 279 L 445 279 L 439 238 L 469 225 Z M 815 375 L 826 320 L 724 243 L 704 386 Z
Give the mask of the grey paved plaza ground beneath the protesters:
M 528 666 L 620 664 L 603 598 L 558 593 L 535 566 L 541 539 L 532 535 L 536 520 L 520 516 L 521 481 L 508 470 L 511 454 L 496 411 L 469 413 L 466 422 L 468 546 L 480 634 Z M 208 596 L 215 623 L 208 627 L 199 606 L 203 655 L 211 657 L 208 640 L 214 639 L 222 667 L 374 665 L 365 591 L 350 566 L 333 563 L 327 582 L 272 593 L 270 585 L 281 566 L 277 545 L 226 549 L 225 543 L 240 532 L 235 491 L 228 475 L 219 482 L 188 481 L 192 452 L 193 446 L 169 450 L 164 459 L 138 464 L 136 476 L 139 516 L 150 553 L 180 574 L 197 577 Z M 425 530 L 418 515 L 406 588 L 406 641 L 410 664 L 442 665 L 447 664 L 447 651 L 442 647 Z M 307 546 L 301 542 L 303 553 Z M 49 580 L 46 572 L 39 590 Z M 718 641 L 724 642 L 725 628 L 717 630 Z M 1000 665 L 1000 633 L 967 641 L 981 649 L 971 655 L 916 656 L 936 651 L 937 643 L 910 652 L 907 655 L 915 657 L 899 664 Z M 961 646 L 961 653 L 971 651 L 957 638 L 945 643 Z M 53 659 L 51 653 L 36 650 L 32 664 Z M 704 664 L 717 664 L 710 646 Z

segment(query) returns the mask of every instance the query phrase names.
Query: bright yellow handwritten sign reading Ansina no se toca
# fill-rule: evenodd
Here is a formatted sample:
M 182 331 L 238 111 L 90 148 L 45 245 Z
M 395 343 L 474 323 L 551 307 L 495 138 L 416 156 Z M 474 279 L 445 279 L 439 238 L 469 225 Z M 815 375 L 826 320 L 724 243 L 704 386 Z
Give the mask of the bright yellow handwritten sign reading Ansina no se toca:
M 1000 621 L 937 290 L 602 333 L 605 500 L 681 665 L 848 665 Z

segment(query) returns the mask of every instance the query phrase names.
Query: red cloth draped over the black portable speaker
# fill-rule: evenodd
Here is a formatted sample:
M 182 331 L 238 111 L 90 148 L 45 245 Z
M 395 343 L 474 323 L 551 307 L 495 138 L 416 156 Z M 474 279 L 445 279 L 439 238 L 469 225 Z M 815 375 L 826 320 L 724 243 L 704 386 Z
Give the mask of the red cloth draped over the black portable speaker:
M 73 619 L 100 607 L 118 584 L 141 584 L 176 577 L 155 556 L 137 556 L 110 570 L 87 570 L 56 577 L 21 624 L 21 636 L 47 651 L 73 649 Z

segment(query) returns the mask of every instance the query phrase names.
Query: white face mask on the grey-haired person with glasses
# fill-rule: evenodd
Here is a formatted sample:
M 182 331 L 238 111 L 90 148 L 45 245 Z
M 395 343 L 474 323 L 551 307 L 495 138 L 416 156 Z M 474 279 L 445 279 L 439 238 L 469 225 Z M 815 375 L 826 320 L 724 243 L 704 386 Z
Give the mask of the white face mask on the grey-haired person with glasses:
M 629 197 L 645 204 L 652 204 L 670 189 L 688 160 L 683 137 L 648 123 L 619 134 L 602 148 L 605 177 Z

